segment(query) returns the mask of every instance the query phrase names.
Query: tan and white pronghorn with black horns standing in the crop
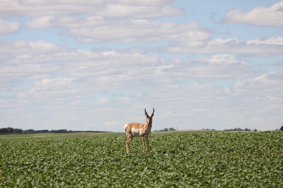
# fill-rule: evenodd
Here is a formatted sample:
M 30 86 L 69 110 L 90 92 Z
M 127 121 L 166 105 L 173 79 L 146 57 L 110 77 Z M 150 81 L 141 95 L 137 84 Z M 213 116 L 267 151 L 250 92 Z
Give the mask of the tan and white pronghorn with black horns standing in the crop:
M 147 117 L 147 120 L 145 123 L 128 123 L 124 125 L 124 130 L 126 131 L 126 134 L 127 134 L 127 140 L 126 140 L 127 153 L 130 152 L 129 143 L 131 142 L 133 137 L 141 137 L 142 144 L 144 146 L 144 153 L 147 152 L 147 149 L 149 146 L 148 136 L 151 133 L 152 117 L 154 113 L 154 108 L 153 108 L 153 113 L 150 116 L 147 114 L 146 108 L 144 109 L 144 112 L 145 112 L 145 116 Z M 146 149 L 145 149 L 144 137 L 147 139 Z

